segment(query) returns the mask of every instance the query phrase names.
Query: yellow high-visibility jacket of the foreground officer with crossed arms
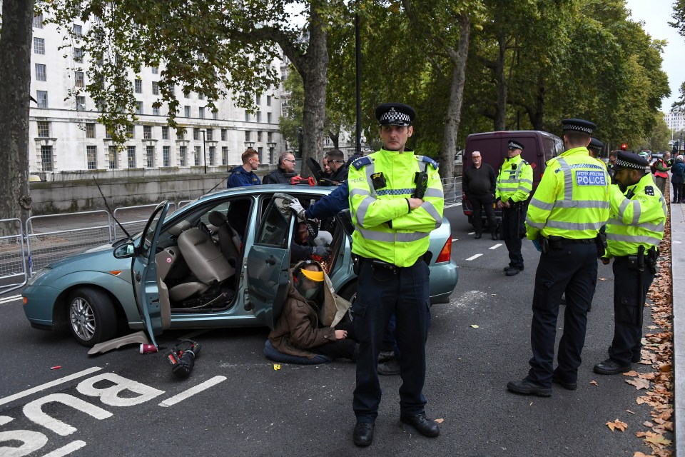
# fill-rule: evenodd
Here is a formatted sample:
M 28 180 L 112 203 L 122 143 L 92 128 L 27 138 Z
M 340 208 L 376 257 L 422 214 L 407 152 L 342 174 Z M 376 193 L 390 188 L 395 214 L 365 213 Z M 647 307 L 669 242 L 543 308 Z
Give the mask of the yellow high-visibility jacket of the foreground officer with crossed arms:
M 410 211 L 418 171 L 427 172 L 428 187 L 423 204 Z M 445 205 L 435 161 L 412 151 L 381 149 L 352 162 L 347 186 L 355 224 L 353 253 L 396 266 L 412 266 L 426 253 Z

